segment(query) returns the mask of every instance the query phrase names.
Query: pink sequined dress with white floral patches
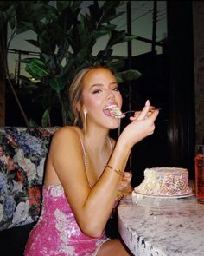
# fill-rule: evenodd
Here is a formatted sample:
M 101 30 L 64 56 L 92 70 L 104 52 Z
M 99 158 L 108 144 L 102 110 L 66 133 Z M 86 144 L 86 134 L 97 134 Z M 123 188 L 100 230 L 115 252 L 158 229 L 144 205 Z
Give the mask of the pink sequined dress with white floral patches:
M 82 233 L 61 185 L 43 187 L 41 217 L 29 234 L 24 256 L 96 255 L 109 240 Z

